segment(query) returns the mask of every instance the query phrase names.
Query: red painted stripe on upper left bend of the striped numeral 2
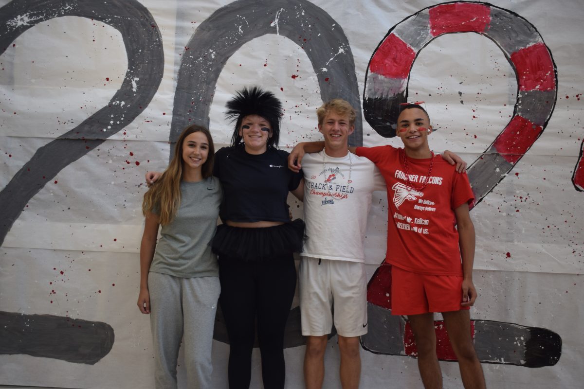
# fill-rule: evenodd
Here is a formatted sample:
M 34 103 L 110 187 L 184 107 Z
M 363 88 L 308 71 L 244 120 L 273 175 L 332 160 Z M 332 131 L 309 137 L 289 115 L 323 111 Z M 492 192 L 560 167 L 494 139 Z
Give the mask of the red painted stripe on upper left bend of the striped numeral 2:
M 377 48 L 369 70 L 388 78 L 407 79 L 416 52 L 397 35 L 390 34 Z

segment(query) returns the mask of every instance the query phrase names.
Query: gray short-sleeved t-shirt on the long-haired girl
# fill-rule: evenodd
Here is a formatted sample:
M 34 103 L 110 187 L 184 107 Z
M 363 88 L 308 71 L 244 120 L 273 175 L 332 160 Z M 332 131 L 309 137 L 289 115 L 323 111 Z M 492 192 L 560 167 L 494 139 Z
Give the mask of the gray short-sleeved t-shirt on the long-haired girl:
M 196 183 L 183 181 L 180 197 L 175 218 L 162 226 L 150 271 L 183 278 L 218 276 L 217 257 L 209 244 L 221 204 L 219 180 L 209 177 Z

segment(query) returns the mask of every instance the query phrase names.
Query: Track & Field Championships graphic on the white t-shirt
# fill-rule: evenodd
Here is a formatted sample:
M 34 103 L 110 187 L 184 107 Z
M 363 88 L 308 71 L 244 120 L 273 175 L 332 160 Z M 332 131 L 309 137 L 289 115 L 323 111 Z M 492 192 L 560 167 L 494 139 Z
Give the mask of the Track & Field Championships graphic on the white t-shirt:
M 311 195 L 324 197 L 321 205 L 335 204 L 335 200 L 346 199 L 354 191 L 354 187 L 350 186 L 352 182 L 345 178 L 345 174 L 338 166 L 327 167 L 318 176 L 312 176 L 311 178 L 319 181 L 308 181 L 305 185 L 310 188 Z

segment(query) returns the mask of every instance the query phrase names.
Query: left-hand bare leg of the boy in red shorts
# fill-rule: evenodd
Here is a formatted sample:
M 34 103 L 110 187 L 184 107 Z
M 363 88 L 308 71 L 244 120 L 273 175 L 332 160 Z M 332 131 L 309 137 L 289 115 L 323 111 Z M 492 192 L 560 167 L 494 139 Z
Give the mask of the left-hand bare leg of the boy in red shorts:
M 426 389 L 442 389 L 442 372 L 436 356 L 436 332 L 434 314 L 409 315 L 413 336 L 418 348 L 418 369 Z

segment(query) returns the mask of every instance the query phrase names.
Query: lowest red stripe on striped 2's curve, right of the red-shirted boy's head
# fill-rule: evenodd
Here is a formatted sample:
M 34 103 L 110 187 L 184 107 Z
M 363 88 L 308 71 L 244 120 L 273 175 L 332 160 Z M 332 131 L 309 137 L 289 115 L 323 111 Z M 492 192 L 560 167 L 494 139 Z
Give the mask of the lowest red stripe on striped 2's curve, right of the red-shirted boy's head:
M 516 163 L 533 145 L 541 131 L 543 131 L 541 126 L 515 115 L 497 136 L 493 146 L 507 162 Z

